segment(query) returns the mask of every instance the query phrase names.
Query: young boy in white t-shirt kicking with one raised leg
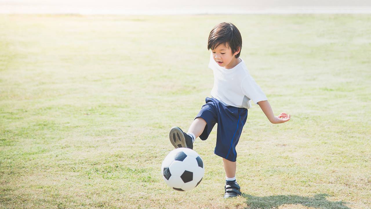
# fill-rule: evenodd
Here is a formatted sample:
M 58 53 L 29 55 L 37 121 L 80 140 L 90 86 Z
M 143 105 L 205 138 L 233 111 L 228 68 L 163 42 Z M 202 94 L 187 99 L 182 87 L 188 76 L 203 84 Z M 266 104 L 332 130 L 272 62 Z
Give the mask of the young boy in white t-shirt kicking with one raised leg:
M 207 49 L 211 49 L 209 68 L 214 73 L 211 98 L 193 120 L 187 134 L 174 126 L 170 130 L 170 142 L 175 148 L 193 149 L 199 136 L 206 140 L 215 123 L 218 123 L 214 153 L 223 159 L 226 173 L 224 198 L 241 195 L 236 182 L 236 145 L 247 119 L 250 99 L 260 106 L 271 123 L 284 123 L 290 115 L 274 116 L 268 99 L 247 71 L 245 62 L 239 58 L 242 38 L 232 23 L 220 23 L 209 34 Z

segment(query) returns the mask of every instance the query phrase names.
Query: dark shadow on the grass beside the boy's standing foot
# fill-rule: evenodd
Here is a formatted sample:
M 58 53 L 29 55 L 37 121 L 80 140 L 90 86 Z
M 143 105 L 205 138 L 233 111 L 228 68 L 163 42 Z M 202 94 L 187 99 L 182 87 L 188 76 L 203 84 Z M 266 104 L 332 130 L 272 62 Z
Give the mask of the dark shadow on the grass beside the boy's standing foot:
M 306 207 L 318 209 L 350 209 L 344 205 L 346 202 L 331 202 L 326 200 L 326 197 L 329 196 L 328 194 L 316 194 L 313 197 L 303 197 L 297 195 L 273 195 L 257 197 L 242 193 L 242 196 L 246 198 L 246 203 L 248 206 L 250 206 L 250 209 L 272 209 L 278 208 L 279 206 L 285 204 L 301 204 Z

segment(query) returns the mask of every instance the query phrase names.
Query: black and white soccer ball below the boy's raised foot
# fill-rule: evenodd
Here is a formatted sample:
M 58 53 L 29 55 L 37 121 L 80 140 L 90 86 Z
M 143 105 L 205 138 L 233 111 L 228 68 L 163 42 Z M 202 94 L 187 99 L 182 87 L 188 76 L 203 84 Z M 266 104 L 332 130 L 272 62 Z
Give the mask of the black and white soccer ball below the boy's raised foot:
M 161 165 L 165 183 L 178 191 L 188 191 L 196 187 L 204 173 L 205 167 L 200 155 L 189 148 L 174 149 Z

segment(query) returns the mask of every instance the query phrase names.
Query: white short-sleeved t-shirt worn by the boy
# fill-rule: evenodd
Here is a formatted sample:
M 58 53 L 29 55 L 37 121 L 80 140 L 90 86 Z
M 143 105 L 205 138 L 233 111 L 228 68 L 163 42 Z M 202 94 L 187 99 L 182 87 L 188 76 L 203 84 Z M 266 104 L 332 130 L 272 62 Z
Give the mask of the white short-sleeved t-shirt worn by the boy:
M 262 89 L 256 84 L 247 70 L 245 62 L 241 62 L 231 69 L 219 66 L 210 54 L 209 68 L 214 72 L 214 87 L 211 96 L 225 106 L 251 107 L 254 103 L 268 100 Z

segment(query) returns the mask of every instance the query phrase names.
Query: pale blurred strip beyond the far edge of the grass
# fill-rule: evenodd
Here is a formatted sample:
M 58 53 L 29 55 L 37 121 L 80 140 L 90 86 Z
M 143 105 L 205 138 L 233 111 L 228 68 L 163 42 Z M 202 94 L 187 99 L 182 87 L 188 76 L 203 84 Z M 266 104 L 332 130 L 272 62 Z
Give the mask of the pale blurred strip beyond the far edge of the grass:
M 369 0 L 188 0 L 89 1 L 1 0 L 0 13 L 77 14 L 246 14 L 246 13 L 370 13 Z

